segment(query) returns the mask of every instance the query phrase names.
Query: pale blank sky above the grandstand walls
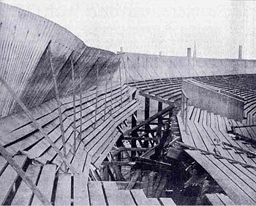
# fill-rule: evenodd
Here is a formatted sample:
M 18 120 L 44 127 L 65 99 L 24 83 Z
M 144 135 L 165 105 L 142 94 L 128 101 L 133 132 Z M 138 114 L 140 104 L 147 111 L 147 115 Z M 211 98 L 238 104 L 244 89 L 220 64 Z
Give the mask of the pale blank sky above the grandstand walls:
M 116 52 L 256 59 L 253 0 L 0 0 L 52 20 L 86 45 Z

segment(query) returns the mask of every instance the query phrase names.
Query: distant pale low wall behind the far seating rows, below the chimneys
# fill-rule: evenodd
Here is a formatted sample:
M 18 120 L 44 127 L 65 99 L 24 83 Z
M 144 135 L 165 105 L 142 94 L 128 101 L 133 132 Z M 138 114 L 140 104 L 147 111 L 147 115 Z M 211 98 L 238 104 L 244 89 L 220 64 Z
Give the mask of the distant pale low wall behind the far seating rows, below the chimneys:
M 118 57 L 121 59 L 121 74 L 125 82 L 167 77 L 256 74 L 256 60 L 193 59 L 129 52 L 118 54 Z

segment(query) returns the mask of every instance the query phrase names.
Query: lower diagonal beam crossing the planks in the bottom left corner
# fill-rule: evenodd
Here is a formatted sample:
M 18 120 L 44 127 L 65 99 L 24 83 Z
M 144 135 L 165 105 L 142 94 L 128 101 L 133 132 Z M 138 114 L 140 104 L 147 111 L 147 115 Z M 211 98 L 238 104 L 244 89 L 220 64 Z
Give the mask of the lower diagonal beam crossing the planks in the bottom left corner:
M 33 181 L 26 175 L 26 173 L 21 169 L 21 167 L 12 159 L 12 156 L 7 152 L 4 146 L 0 143 L 0 153 L 4 159 L 12 166 L 16 173 L 22 178 L 22 180 L 29 186 L 29 189 L 34 192 L 35 196 L 42 202 L 42 205 L 52 205 L 50 201 L 42 194 L 41 191 L 37 188 Z

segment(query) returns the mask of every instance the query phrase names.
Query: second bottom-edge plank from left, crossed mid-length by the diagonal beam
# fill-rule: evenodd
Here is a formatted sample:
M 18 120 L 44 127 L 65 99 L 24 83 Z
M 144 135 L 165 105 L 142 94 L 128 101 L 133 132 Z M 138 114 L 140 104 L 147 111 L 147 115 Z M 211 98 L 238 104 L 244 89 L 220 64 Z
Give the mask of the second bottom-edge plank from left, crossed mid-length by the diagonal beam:
M 26 175 L 31 178 L 34 184 L 36 184 L 37 177 L 39 175 L 40 165 L 29 165 L 26 170 Z M 21 182 L 15 197 L 12 199 L 12 205 L 29 205 L 32 198 L 33 191 L 26 185 L 24 181 Z M 41 202 L 39 202 L 41 204 Z

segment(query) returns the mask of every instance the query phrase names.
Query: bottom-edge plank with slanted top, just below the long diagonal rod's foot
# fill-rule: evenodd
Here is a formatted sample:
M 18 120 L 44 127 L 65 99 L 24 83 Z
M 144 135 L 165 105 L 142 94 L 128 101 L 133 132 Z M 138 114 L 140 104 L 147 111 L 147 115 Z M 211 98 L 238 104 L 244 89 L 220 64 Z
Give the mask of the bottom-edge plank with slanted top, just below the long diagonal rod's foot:
M 74 175 L 74 205 L 90 205 L 88 190 L 89 170 Z

